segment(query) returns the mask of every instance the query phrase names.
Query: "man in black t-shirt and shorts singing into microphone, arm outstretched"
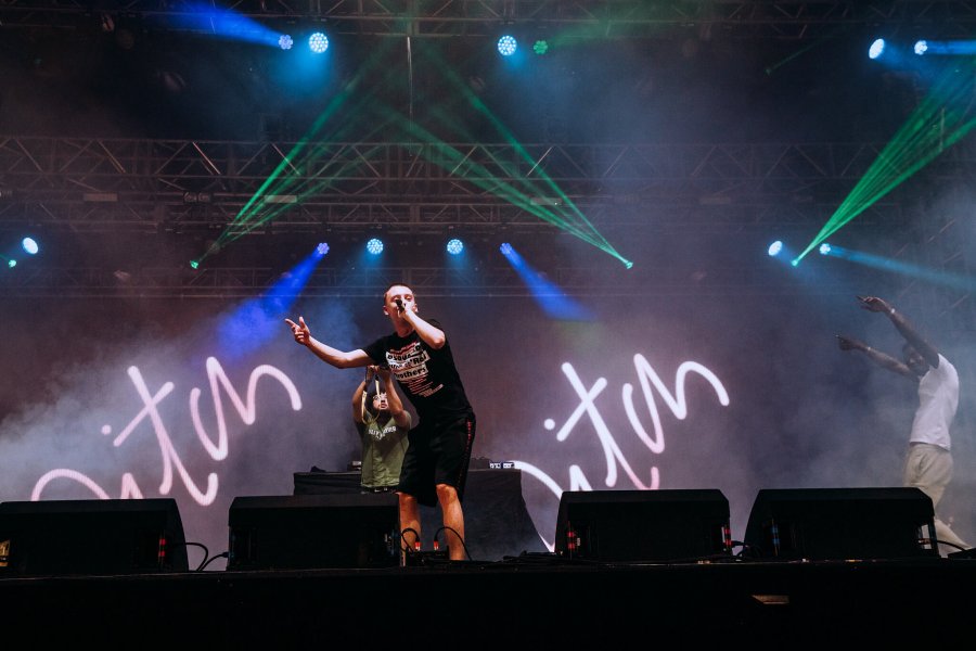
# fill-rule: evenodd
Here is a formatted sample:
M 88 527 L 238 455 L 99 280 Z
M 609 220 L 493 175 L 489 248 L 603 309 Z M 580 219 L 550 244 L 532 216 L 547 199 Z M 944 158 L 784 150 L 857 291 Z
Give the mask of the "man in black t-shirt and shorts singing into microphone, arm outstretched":
M 318 341 L 303 317 L 285 319 L 295 341 L 322 361 L 338 368 L 388 365 L 416 409 L 420 423 L 408 434 L 397 494 L 402 545 L 414 549 L 421 539 L 420 505 L 440 505 L 449 558 L 464 560 L 464 513 L 461 499 L 475 437 L 475 413 L 454 366 L 447 334 L 435 319 L 418 314 L 410 288 L 390 285 L 383 312 L 394 332 L 356 350 L 342 352 Z

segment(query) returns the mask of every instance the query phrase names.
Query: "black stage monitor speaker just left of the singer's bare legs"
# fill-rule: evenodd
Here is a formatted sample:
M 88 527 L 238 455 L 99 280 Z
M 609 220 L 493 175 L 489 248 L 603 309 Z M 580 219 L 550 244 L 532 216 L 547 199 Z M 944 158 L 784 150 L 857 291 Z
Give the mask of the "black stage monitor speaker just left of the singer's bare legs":
M 228 522 L 228 570 L 400 563 L 395 493 L 237 497 Z

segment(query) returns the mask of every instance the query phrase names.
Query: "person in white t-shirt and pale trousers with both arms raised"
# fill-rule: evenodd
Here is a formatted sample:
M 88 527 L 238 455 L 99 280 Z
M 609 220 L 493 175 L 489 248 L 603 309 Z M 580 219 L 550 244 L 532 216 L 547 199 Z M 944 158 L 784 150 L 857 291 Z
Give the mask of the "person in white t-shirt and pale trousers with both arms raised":
M 902 469 L 902 484 L 920 488 L 932 499 L 933 509 L 952 480 L 952 452 L 949 430 L 959 407 L 959 373 L 948 359 L 932 346 L 909 319 L 884 298 L 858 296 L 864 309 L 887 315 L 904 337 L 903 360 L 864 342 L 838 334 L 842 350 L 860 350 L 883 368 L 903 375 L 919 385 L 919 407 L 912 422 L 909 448 Z M 948 524 L 935 518 L 936 538 L 954 550 L 968 549 Z M 954 551 L 953 550 L 953 551 Z M 945 553 L 945 550 L 940 550 Z

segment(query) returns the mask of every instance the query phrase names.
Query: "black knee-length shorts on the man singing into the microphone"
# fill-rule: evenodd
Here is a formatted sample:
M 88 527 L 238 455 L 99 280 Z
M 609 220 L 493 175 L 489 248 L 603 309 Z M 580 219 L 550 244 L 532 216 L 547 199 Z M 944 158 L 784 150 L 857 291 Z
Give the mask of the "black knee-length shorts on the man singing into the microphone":
M 421 418 L 420 424 L 407 435 L 409 445 L 400 469 L 400 493 L 434 507 L 437 485 L 447 484 L 463 499 L 474 436 L 474 413 L 440 423 Z

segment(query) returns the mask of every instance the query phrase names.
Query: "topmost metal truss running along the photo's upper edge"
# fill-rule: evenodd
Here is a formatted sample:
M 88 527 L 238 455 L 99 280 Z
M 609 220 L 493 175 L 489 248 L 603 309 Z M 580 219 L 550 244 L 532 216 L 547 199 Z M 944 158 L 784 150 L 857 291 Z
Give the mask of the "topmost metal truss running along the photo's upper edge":
M 941 38 L 969 38 L 976 5 L 951 0 L 886 2 L 818 0 L 240 0 L 214 2 L 215 9 L 266 26 L 316 22 L 337 34 L 450 37 L 497 36 L 501 26 L 599 30 L 604 38 L 660 38 L 675 29 L 721 33 L 736 38 L 798 40 L 835 34 L 837 28 L 937 27 Z M 185 0 L 2 0 L 3 28 L 95 26 L 102 16 L 139 18 L 158 28 L 198 9 Z M 246 29 L 242 23 L 241 29 Z M 196 29 L 202 29 L 197 27 Z

